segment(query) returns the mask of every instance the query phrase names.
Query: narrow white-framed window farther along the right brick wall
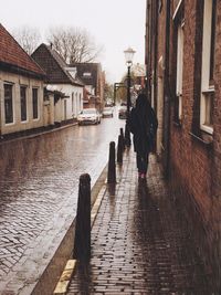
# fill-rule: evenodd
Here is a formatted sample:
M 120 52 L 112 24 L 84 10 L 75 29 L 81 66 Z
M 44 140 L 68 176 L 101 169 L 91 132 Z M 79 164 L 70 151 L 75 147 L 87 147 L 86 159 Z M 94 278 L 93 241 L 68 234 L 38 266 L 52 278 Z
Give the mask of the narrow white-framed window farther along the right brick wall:
M 182 72 L 183 72 L 183 20 L 178 23 L 177 28 L 177 119 L 182 118 Z

